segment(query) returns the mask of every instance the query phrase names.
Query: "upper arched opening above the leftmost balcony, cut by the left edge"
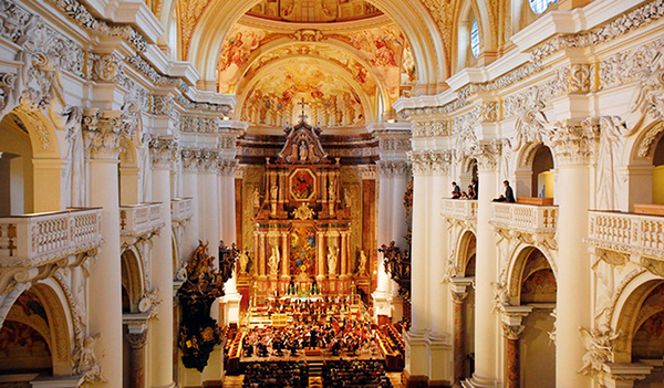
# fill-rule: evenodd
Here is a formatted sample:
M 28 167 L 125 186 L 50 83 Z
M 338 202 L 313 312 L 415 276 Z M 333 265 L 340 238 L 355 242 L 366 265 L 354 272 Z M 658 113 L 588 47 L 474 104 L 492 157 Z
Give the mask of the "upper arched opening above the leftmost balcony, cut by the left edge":
M 34 210 L 30 134 L 15 115 L 0 122 L 0 216 L 31 213 Z

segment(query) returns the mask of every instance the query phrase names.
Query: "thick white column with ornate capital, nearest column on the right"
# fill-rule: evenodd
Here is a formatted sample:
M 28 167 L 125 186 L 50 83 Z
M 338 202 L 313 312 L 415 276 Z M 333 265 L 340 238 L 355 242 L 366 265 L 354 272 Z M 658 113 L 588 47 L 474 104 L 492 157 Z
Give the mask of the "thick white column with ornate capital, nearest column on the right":
M 578 374 L 583 366 L 585 347 L 579 340 L 579 327 L 591 325 L 590 254 L 583 239 L 588 234 L 593 130 L 580 123 L 566 123 L 557 129 L 561 141 L 553 148 L 559 162 L 558 181 L 573 190 L 557 190 L 558 282 L 556 303 L 556 384 L 557 387 L 589 387 L 590 376 Z M 481 191 L 480 191 L 481 192 Z M 479 238 L 478 238 L 479 241 Z

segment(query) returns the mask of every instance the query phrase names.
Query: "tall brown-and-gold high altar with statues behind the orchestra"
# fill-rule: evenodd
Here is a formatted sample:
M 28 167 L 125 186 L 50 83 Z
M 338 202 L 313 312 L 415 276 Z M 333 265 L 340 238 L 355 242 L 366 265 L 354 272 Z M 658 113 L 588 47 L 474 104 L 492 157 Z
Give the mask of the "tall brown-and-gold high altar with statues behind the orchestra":
M 350 294 L 354 272 L 366 273 L 363 252 L 351 268 L 352 217 L 341 200 L 341 165 L 323 150 L 320 133 L 301 120 L 287 129 L 278 157 L 267 158 L 262 199 L 258 189 L 252 198 L 260 206 L 249 271 L 242 272 L 241 262 L 249 258 L 240 255 L 240 279 L 251 283 L 255 295 L 284 295 L 291 284 L 299 294 L 311 294 L 314 281 L 321 294 Z

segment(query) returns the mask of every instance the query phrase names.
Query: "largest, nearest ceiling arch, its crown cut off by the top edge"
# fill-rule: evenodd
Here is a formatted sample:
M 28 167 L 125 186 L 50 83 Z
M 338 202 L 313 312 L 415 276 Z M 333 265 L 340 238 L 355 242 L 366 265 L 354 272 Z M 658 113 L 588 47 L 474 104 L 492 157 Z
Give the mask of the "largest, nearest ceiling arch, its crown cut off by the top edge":
M 217 0 L 206 7 L 191 34 L 191 46 L 186 59 L 200 71 L 204 81 L 216 80 L 217 61 L 230 29 L 258 2 Z M 370 2 L 390 15 L 404 31 L 413 50 L 422 92 L 436 93 L 437 84 L 442 84 L 448 75 L 445 61 L 447 53 L 428 10 L 419 1 Z M 219 18 L 219 14 L 227 17 Z

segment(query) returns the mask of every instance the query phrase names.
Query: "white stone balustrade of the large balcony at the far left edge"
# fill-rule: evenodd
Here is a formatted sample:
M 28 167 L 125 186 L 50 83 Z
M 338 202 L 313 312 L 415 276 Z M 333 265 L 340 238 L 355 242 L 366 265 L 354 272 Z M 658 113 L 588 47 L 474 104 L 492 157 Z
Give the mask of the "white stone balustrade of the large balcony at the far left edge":
M 38 266 L 102 243 L 102 209 L 0 218 L 0 266 Z

